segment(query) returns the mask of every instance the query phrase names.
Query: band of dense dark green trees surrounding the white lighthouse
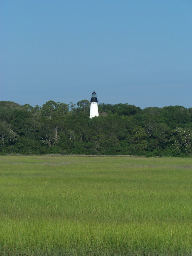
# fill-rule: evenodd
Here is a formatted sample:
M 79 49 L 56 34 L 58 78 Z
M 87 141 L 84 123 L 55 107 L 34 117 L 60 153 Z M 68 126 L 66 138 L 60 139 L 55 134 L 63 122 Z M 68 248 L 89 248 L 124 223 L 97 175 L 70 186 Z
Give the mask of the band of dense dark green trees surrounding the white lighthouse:
M 192 108 L 0 102 L 0 154 L 191 156 Z

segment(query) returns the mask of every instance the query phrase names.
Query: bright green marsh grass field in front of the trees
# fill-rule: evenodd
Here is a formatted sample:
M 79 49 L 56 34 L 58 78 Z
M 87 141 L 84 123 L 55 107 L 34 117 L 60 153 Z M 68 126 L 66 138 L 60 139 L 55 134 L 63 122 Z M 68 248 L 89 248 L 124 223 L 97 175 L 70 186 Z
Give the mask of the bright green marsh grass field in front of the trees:
M 192 255 L 192 159 L 0 156 L 0 255 Z

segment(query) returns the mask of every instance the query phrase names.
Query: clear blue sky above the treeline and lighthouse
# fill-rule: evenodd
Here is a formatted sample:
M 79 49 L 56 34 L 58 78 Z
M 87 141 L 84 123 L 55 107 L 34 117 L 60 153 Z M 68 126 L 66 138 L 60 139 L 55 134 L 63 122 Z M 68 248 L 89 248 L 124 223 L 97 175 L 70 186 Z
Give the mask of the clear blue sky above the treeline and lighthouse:
M 0 100 L 192 107 L 192 0 L 1 0 Z

